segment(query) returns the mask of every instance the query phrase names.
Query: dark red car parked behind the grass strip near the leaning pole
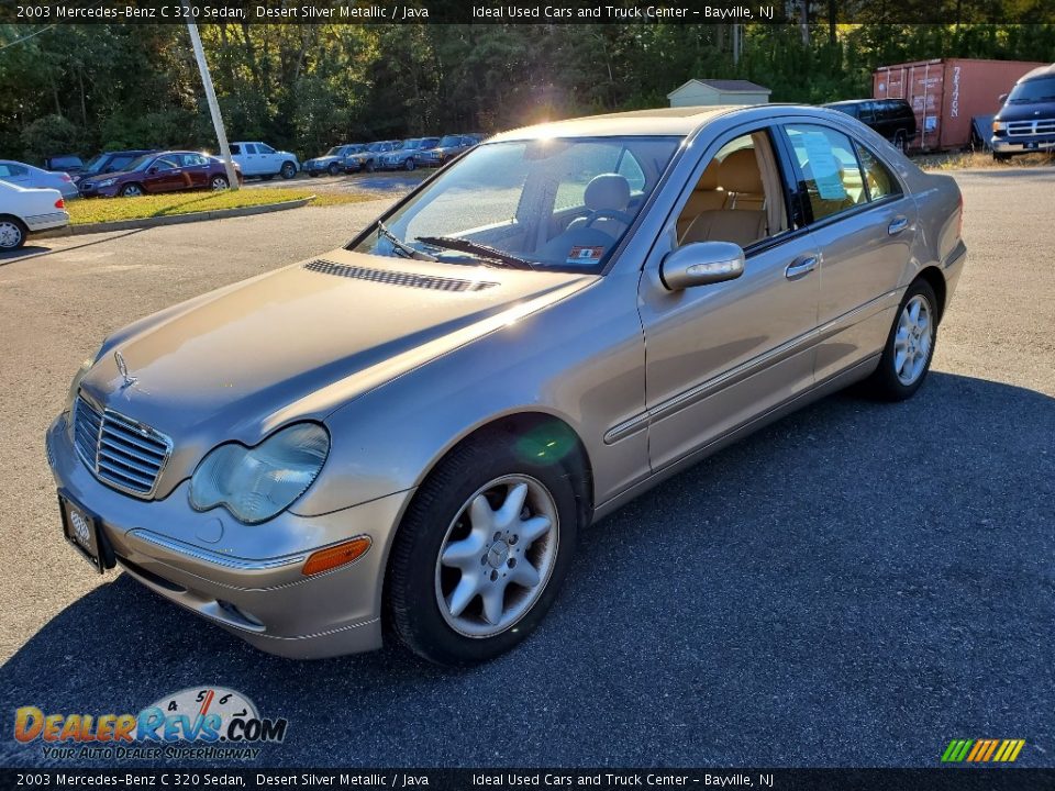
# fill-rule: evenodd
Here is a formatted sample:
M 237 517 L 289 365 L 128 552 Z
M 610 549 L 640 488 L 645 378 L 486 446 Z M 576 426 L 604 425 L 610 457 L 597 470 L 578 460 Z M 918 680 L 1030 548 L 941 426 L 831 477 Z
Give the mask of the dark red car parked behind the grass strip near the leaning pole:
M 242 171 L 234 166 L 242 183 Z M 226 189 L 223 161 L 195 152 L 155 152 L 144 154 L 121 172 L 100 174 L 81 179 L 77 188 L 85 198 L 132 198 L 157 192 L 193 189 Z

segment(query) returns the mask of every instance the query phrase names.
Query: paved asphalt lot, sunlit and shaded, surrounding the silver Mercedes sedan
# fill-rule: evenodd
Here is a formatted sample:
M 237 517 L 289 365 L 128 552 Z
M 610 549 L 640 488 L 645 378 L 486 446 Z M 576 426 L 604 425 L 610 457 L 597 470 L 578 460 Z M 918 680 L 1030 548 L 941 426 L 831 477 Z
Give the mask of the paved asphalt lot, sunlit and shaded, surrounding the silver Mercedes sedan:
M 829 398 L 654 489 L 586 532 L 534 636 L 466 671 L 395 645 L 270 657 L 93 575 L 44 458 L 103 335 L 335 247 L 382 203 L 0 260 L 0 712 L 221 684 L 289 721 L 260 766 L 934 766 L 965 737 L 1050 766 L 1055 171 L 957 179 L 970 258 L 917 398 Z M 10 722 L 0 764 L 46 762 Z

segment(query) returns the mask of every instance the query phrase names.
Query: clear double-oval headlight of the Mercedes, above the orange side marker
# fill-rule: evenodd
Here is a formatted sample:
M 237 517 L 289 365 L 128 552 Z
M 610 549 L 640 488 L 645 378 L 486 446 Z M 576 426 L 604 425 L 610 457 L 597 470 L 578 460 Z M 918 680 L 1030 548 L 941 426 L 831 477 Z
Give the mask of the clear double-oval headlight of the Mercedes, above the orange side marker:
M 330 453 L 330 434 L 318 423 L 297 423 L 256 447 L 227 443 L 211 450 L 190 479 L 197 511 L 223 505 L 246 524 L 265 522 L 303 494 Z

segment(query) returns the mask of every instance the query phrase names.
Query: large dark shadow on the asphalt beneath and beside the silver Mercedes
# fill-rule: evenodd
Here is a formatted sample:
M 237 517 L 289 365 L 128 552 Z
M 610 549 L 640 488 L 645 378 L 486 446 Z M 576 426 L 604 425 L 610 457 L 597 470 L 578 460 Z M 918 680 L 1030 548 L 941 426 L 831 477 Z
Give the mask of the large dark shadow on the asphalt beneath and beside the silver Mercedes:
M 930 766 L 963 734 L 1050 745 L 1052 437 L 1055 399 L 981 379 L 825 399 L 587 531 L 538 631 L 469 670 L 391 645 L 271 657 L 120 576 L 0 668 L 0 716 L 219 684 L 289 721 L 256 766 Z M 0 765 L 41 762 L 0 740 Z

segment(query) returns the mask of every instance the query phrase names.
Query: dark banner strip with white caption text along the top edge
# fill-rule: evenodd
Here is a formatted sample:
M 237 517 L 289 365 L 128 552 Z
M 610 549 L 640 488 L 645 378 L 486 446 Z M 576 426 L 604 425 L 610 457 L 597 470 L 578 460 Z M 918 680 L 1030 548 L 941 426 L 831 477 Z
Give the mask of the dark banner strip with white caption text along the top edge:
M 1055 0 L 3 0 L 14 24 L 1039 24 Z

